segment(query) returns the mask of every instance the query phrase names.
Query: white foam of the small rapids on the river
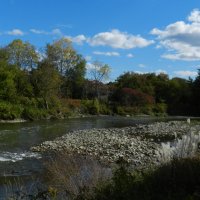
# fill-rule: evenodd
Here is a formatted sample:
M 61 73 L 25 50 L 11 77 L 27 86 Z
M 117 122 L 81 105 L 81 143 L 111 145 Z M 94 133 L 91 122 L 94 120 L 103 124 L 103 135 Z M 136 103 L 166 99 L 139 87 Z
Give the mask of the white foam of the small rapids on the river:
M 25 158 L 40 159 L 41 155 L 39 153 L 33 153 L 28 151 L 19 153 L 0 152 L 0 162 L 17 162 Z

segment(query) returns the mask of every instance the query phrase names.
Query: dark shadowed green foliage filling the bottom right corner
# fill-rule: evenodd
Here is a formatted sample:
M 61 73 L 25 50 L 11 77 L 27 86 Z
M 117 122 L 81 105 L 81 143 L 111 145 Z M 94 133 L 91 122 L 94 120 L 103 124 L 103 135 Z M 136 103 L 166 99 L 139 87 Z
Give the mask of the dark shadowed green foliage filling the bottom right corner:
M 173 160 L 158 169 L 131 173 L 121 166 L 112 180 L 95 188 L 87 200 L 197 200 L 200 199 L 200 160 Z

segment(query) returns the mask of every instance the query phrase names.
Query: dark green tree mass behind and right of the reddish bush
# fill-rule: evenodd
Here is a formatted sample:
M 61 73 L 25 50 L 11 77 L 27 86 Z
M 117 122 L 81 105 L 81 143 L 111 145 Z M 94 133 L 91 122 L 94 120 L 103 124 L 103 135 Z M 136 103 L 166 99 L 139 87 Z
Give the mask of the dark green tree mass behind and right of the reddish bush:
M 200 73 L 197 78 L 192 81 L 182 78 L 169 79 L 168 75 L 163 73 L 156 75 L 155 73 L 137 74 L 134 72 L 127 72 L 119 76 L 114 83 L 116 91 L 113 93 L 112 99 L 121 103 L 128 102 L 130 104 L 131 100 L 133 100 L 133 98 L 130 98 L 130 94 L 128 95 L 130 100 L 127 100 L 128 97 L 125 98 L 127 94 L 120 95 L 123 94 L 122 91 L 126 88 L 126 91 L 129 91 L 128 93 L 133 93 L 132 90 L 136 90 L 149 95 L 148 97 L 146 96 L 147 99 L 152 97 L 155 103 L 165 103 L 169 114 L 199 115 L 199 77 Z M 147 104 L 147 102 L 145 104 Z M 197 111 L 198 109 L 199 111 Z

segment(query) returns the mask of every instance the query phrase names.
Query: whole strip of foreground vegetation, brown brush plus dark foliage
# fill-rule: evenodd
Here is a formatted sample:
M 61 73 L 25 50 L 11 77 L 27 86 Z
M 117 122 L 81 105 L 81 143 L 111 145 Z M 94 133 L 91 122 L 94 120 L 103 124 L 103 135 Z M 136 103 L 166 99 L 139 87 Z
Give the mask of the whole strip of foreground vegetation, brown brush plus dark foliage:
M 7 199 L 200 199 L 200 158 L 198 156 L 174 159 L 159 167 L 143 171 L 132 171 L 127 164 L 121 163 L 113 172 L 112 177 L 102 170 L 102 166 L 100 167 L 89 158 L 68 156 L 62 157 L 62 160 L 55 161 L 54 159 L 49 164 L 48 186 L 43 187 L 43 190 L 38 189 L 34 194 L 28 193 L 28 190 L 18 191 Z M 21 188 L 23 189 L 19 185 L 19 189 Z

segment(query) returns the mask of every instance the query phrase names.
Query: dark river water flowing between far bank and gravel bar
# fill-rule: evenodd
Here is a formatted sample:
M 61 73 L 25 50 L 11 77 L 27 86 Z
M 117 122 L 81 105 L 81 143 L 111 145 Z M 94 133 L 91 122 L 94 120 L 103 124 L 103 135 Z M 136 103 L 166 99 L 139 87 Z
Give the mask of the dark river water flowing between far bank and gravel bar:
M 35 121 L 0 124 L 0 199 L 5 196 L 4 185 L 20 177 L 29 181 L 42 173 L 41 155 L 30 152 L 30 147 L 53 140 L 69 131 L 91 128 L 125 127 L 154 121 L 183 118 L 150 117 L 88 117 L 77 119 Z M 35 181 L 35 179 L 34 179 Z

